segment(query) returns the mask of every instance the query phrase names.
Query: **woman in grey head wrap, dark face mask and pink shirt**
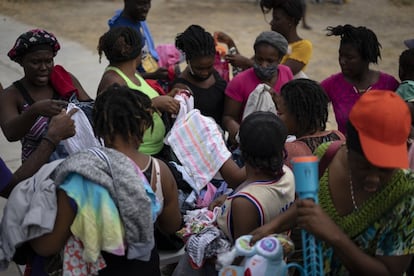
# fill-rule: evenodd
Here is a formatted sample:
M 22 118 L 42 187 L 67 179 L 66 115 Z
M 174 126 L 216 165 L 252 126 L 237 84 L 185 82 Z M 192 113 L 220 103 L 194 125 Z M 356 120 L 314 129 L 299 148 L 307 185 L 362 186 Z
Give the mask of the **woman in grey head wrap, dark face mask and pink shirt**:
M 247 100 L 256 87 L 264 83 L 279 94 L 280 88 L 293 79 L 289 67 L 279 64 L 288 48 L 288 43 L 281 34 L 274 31 L 263 32 L 256 38 L 253 48 L 253 67 L 234 77 L 225 92 L 223 127 L 229 132 L 229 140 L 233 145 L 237 144 L 235 136 L 240 128 Z

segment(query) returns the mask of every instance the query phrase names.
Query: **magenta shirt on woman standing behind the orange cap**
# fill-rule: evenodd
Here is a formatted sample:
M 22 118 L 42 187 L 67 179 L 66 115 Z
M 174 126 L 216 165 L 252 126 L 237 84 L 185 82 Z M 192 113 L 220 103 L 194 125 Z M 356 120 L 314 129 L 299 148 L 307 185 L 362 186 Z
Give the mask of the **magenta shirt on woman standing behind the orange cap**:
M 345 80 L 342 73 L 330 76 L 321 85 L 332 102 L 338 130 L 345 135 L 349 112 L 361 94 L 355 92 L 354 86 Z M 393 76 L 380 72 L 378 81 L 371 85 L 370 90 L 395 91 L 398 85 L 399 82 Z

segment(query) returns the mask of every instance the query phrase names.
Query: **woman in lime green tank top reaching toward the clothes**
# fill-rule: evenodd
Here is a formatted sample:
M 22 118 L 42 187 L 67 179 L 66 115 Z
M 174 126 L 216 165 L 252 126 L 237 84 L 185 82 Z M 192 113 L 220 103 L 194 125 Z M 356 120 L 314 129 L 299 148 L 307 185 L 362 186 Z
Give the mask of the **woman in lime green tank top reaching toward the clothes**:
M 179 103 L 169 95 L 160 96 L 137 72 L 141 62 L 142 39 L 131 27 L 114 27 L 99 39 L 99 56 L 105 53 L 109 66 L 98 86 L 99 95 L 111 84 L 127 85 L 133 90 L 147 95 L 154 107 L 161 111 L 177 114 Z M 164 147 L 165 125 L 158 112 L 153 113 L 154 126 L 147 129 L 139 151 L 145 154 L 161 154 Z

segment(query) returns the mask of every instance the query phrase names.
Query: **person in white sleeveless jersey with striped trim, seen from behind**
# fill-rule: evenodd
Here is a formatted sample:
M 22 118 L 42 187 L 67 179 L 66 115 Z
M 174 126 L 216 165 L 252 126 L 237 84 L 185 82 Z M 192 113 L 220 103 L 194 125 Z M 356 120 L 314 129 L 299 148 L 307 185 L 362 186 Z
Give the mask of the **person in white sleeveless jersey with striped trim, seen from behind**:
M 286 127 L 272 112 L 253 112 L 241 123 L 239 139 L 246 179 L 232 194 L 210 205 L 221 205 L 217 226 L 231 242 L 270 222 L 293 203 L 293 173 L 284 165 L 286 136 Z M 185 255 L 180 260 L 174 276 L 217 275 L 214 262 L 206 261 L 201 269 L 194 270 L 188 258 Z

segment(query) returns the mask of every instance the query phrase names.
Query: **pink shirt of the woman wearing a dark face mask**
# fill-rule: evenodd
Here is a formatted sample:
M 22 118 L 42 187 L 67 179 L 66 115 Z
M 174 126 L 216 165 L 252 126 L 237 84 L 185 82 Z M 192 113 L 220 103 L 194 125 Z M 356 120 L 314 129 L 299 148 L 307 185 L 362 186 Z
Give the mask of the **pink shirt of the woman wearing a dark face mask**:
M 273 86 L 276 93 L 280 93 L 280 88 L 287 82 L 293 79 L 292 71 L 285 65 L 279 65 L 279 75 L 277 81 Z M 242 111 L 246 106 L 247 99 L 255 90 L 257 85 L 262 83 L 261 80 L 254 73 L 253 68 L 249 68 L 235 76 L 227 85 L 226 95 L 231 99 L 242 104 Z M 242 112 L 243 114 L 243 112 Z M 240 114 L 240 119 L 242 114 Z

